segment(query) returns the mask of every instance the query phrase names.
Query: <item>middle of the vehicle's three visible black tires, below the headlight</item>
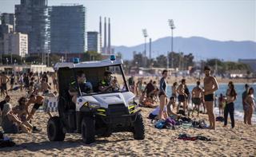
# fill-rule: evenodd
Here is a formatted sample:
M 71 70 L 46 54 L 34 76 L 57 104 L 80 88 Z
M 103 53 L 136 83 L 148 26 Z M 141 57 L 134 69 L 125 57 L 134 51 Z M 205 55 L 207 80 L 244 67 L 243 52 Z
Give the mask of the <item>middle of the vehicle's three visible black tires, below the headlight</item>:
M 81 124 L 82 140 L 86 144 L 95 141 L 95 120 L 93 117 L 86 116 L 82 119 Z

